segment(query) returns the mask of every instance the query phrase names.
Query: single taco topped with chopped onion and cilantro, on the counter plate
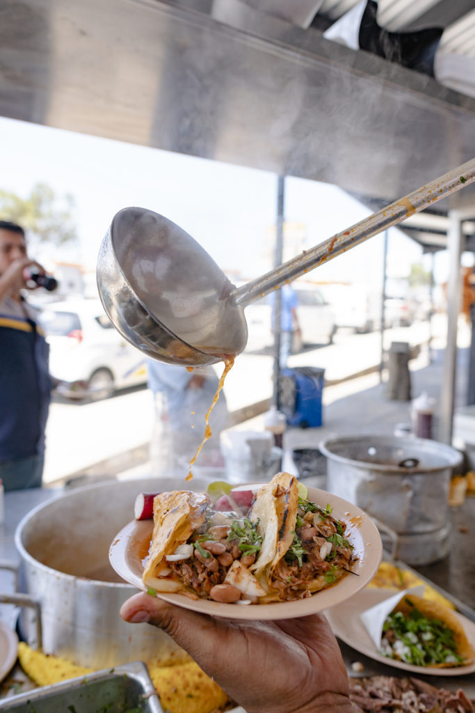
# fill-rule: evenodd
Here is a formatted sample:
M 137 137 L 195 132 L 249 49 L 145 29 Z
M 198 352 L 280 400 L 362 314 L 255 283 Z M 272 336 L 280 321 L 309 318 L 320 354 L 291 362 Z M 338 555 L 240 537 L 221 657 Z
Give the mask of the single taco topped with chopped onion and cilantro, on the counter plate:
M 380 651 L 414 666 L 468 665 L 475 652 L 452 610 L 439 602 L 405 595 L 386 617 Z

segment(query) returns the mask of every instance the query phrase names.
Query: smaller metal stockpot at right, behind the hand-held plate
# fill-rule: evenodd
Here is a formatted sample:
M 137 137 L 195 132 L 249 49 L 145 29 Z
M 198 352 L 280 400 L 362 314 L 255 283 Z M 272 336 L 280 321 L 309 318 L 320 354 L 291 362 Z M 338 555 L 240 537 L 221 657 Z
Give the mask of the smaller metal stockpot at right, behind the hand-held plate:
M 359 506 L 397 540 L 407 564 L 444 558 L 449 548 L 449 486 L 461 453 L 424 438 L 344 436 L 320 444 L 327 489 Z M 383 542 L 385 533 L 382 532 Z

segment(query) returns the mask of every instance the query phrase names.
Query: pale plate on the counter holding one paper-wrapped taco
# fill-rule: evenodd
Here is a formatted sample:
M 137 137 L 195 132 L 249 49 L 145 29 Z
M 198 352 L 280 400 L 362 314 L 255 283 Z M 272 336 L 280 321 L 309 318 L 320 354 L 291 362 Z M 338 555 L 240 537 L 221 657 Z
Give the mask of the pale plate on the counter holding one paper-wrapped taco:
M 432 676 L 461 676 L 463 674 L 475 672 L 475 662 L 467 666 L 457 666 L 454 668 L 436 668 L 434 666 L 412 666 L 411 664 L 404 663 L 404 661 L 397 661 L 395 659 L 387 658 L 382 656 L 375 647 L 375 643 L 372 641 L 370 635 L 368 634 L 365 626 L 360 620 L 360 614 L 366 609 L 373 607 L 387 597 L 394 595 L 394 591 L 376 589 L 376 588 L 366 588 L 358 592 L 355 597 L 353 597 L 349 602 L 345 602 L 345 606 L 337 606 L 330 610 L 325 615 L 330 622 L 333 633 L 338 636 L 345 644 L 353 647 L 364 654 L 369 656 L 375 661 L 379 661 L 387 666 L 402 669 L 404 671 L 411 671 L 412 673 L 420 674 L 430 674 Z M 454 612 L 459 620 L 461 621 L 466 636 L 471 642 L 471 645 L 475 648 L 475 624 L 471 622 L 466 617 L 462 616 L 458 612 Z

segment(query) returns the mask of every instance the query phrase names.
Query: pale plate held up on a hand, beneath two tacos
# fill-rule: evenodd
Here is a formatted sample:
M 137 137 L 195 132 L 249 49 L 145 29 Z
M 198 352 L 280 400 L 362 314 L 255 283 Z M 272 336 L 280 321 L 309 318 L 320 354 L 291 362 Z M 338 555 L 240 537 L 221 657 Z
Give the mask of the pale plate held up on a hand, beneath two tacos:
M 250 484 L 251 486 L 251 484 Z M 206 599 L 192 600 L 181 594 L 160 593 L 160 598 L 185 609 L 229 619 L 291 619 L 320 612 L 353 597 L 377 572 L 382 559 L 380 533 L 372 520 L 357 506 L 342 498 L 308 488 L 308 499 L 325 508 L 333 507 L 332 515 L 346 523 L 345 535 L 355 548 L 358 560 L 353 566 L 355 574 L 348 574 L 332 587 L 315 593 L 307 599 L 294 602 L 240 606 L 222 604 Z M 132 506 L 131 506 L 132 509 Z M 112 545 L 109 558 L 115 571 L 137 589 L 146 590 L 142 583 L 143 560 L 147 556 L 152 537 L 152 520 L 132 520 L 120 530 Z

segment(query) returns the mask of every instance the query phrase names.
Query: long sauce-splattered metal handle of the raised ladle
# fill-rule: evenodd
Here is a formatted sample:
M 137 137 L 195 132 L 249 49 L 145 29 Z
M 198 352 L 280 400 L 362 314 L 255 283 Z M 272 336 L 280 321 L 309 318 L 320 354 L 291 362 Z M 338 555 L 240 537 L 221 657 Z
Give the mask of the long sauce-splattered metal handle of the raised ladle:
M 264 297 L 272 289 L 281 287 L 296 277 L 301 277 L 306 272 L 313 270 L 314 267 L 322 265 L 323 262 L 333 260 L 333 257 L 355 247 L 355 245 L 360 245 L 368 237 L 377 235 L 378 232 L 387 230 L 392 225 L 397 225 L 404 218 L 414 215 L 419 210 L 424 210 L 451 193 L 455 193 L 456 190 L 464 188 L 473 180 L 475 180 L 475 158 L 378 210 L 365 220 L 360 220 L 347 230 L 336 233 L 320 245 L 274 267 L 270 272 L 266 272 L 266 275 L 235 289 L 233 296 L 236 303 L 241 307 L 246 307 L 246 304 L 254 302 L 259 297 Z

